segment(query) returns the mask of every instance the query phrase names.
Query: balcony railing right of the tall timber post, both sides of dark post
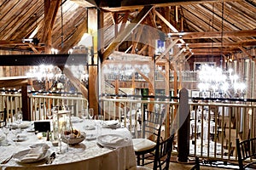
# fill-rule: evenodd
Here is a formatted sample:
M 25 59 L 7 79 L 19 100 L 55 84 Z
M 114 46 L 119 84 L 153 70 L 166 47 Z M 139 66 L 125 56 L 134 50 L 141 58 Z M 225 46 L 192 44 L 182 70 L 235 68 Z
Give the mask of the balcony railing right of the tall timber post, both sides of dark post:
M 165 129 L 168 132 L 165 135 L 169 135 L 170 126 L 176 123 L 175 115 L 179 106 L 178 102 L 172 100 L 124 97 L 102 97 L 100 103 L 102 114 L 107 119 L 119 119 L 119 122 L 127 123 L 128 126 L 124 126 L 130 129 L 134 138 L 137 138 L 141 126 L 140 122 L 134 120 L 143 120 L 140 115 L 145 110 L 157 112 L 161 111 L 162 106 L 166 108 Z M 237 161 L 236 138 L 256 136 L 256 105 L 207 101 L 189 102 L 189 107 L 189 156 L 216 161 Z M 134 114 L 130 116 L 132 111 Z

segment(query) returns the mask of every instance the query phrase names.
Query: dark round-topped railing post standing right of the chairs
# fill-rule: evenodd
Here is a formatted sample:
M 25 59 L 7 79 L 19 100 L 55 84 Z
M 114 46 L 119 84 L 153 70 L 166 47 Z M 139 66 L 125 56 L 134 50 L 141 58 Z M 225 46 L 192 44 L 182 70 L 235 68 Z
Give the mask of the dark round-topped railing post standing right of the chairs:
M 187 162 L 189 156 L 189 93 L 185 88 L 180 91 L 177 128 L 178 161 Z

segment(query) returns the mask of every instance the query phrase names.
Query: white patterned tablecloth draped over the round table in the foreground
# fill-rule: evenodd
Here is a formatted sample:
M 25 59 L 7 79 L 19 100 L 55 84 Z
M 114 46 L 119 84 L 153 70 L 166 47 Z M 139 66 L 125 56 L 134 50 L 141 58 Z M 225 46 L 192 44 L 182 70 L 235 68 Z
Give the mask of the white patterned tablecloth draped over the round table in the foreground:
M 86 122 L 73 123 L 73 126 L 84 131 L 87 134 L 96 134 L 100 131 L 95 130 L 84 130 L 85 125 L 94 125 L 94 122 L 86 120 Z M 52 146 L 50 141 L 46 139 L 38 139 L 34 133 L 27 133 L 26 129 L 23 133 L 27 136 L 27 139 L 23 142 L 12 142 L 9 146 L 0 146 L 0 161 L 3 161 L 7 157 L 11 156 L 17 151 L 29 149 L 29 145 L 36 143 L 47 143 L 49 144 L 49 150 L 51 152 L 59 150 L 59 147 Z M 70 146 L 68 152 L 64 154 L 56 154 L 55 161 L 52 164 L 46 165 L 43 162 L 38 163 L 17 163 L 14 159 L 11 159 L 7 164 L 2 164 L 2 169 L 73 169 L 73 170 L 91 170 L 91 169 L 109 169 L 109 170 L 123 170 L 129 169 L 136 166 L 136 157 L 134 154 L 131 133 L 126 128 L 102 128 L 102 134 L 120 134 L 128 141 L 124 146 L 119 147 L 115 150 L 108 148 L 100 148 L 96 144 L 95 140 L 84 140 L 82 143 Z M 9 138 L 13 136 L 9 133 Z M 67 144 L 62 143 L 62 149 L 65 149 Z

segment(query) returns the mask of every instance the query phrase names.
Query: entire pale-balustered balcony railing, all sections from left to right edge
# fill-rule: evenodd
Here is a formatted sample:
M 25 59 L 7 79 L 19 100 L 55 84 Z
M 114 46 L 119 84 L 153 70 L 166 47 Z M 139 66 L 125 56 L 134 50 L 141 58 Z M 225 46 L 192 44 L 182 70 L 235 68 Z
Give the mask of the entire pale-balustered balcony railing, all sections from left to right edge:
M 1 94 L 1 110 L 9 117 L 21 107 L 20 94 Z M 79 96 L 29 95 L 32 120 L 46 117 L 47 109 L 55 105 L 69 105 L 74 116 L 87 108 L 87 99 Z M 143 113 L 166 112 L 165 136 L 176 123 L 179 103 L 167 98 L 110 97 L 100 99 L 105 119 L 117 119 L 128 127 L 134 138 L 140 131 Z M 256 137 L 256 105 L 248 102 L 225 101 L 189 102 L 189 156 L 211 160 L 237 161 L 236 138 Z M 174 144 L 177 147 L 177 145 Z M 175 152 L 175 150 L 174 150 Z

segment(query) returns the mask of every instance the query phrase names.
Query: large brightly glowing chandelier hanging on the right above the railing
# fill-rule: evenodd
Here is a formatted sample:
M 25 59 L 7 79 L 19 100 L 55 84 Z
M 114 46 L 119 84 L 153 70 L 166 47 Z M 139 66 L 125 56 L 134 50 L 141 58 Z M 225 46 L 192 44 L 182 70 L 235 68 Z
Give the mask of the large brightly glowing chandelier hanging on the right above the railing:
M 198 88 L 201 92 L 210 92 L 212 97 L 243 97 L 246 85 L 234 71 L 202 65 L 198 72 Z

